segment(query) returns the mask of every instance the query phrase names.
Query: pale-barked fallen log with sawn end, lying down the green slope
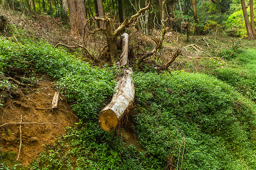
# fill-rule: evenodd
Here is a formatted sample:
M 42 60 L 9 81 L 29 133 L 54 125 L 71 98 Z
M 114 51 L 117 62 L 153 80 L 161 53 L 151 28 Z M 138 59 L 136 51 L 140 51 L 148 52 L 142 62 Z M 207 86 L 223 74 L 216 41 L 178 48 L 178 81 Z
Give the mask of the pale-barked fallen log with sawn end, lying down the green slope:
M 123 34 L 122 49 L 128 50 L 128 35 Z M 127 65 L 128 52 L 122 52 L 121 66 Z M 123 74 L 117 80 L 117 86 L 115 86 L 115 94 L 112 101 L 106 105 L 100 112 L 98 122 L 103 130 L 112 131 L 117 126 L 121 117 L 129 111 L 134 100 L 134 84 L 131 74 L 133 69 L 130 67 L 123 67 Z

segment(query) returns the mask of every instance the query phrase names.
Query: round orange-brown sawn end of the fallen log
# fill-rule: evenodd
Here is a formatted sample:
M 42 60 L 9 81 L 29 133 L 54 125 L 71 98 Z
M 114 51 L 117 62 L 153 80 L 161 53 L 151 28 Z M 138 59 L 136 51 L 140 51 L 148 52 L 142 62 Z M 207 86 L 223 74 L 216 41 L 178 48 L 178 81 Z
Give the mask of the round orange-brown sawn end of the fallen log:
M 100 112 L 98 122 L 103 130 L 112 131 L 117 126 L 118 118 L 112 110 L 106 109 Z

